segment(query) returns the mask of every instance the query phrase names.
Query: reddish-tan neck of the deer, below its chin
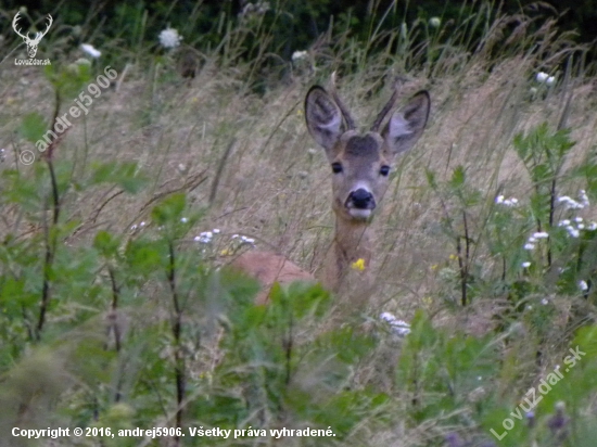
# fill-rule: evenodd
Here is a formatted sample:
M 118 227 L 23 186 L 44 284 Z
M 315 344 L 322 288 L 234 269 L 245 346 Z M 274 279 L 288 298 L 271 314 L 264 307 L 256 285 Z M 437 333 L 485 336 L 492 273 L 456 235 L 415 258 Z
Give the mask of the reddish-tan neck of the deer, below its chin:
M 371 260 L 369 222 L 335 218 L 335 233 L 326 259 L 325 283 L 338 292 L 351 272 L 368 271 Z

